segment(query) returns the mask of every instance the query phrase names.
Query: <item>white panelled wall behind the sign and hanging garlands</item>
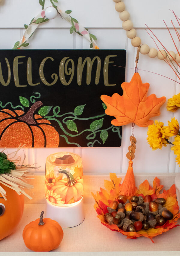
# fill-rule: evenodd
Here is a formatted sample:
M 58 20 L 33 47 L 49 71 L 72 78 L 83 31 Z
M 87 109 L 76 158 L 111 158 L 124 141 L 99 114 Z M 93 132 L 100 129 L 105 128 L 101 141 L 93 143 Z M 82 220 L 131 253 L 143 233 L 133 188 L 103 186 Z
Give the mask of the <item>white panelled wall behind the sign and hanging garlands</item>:
M 126 49 L 125 79 L 129 82 L 134 73 L 137 48 L 134 48 L 131 45 L 131 39 L 126 37 L 113 0 L 58 0 L 58 2 L 62 10 L 72 10 L 72 17 L 75 17 L 84 27 L 88 27 L 90 33 L 97 36 L 97 44 L 100 49 Z M 157 48 L 146 32 L 146 24 L 169 51 L 176 52 L 163 20 L 167 23 L 170 31 L 173 32 L 170 20 L 172 19 L 174 23 L 176 23 L 176 20 L 170 10 L 174 10 L 180 16 L 179 1 L 124 0 L 124 3 L 126 10 L 130 13 L 134 28 L 137 29 L 137 36 L 140 36 L 142 43 Z M 45 7 L 50 5 L 50 1 L 46 0 Z M 0 48 L 11 49 L 14 43 L 22 37 L 24 24 L 29 24 L 30 20 L 40 11 L 41 6 L 38 0 L 3 0 L 0 5 Z M 70 24 L 66 20 L 57 16 L 54 20 L 39 26 L 32 38 L 29 39 L 30 45 L 27 48 L 89 49 L 89 42 L 75 33 L 70 34 L 69 27 Z M 175 41 L 179 48 L 178 40 Z M 167 76 L 176 80 L 176 75 L 164 61 L 160 61 L 157 57 L 151 59 L 147 55 L 140 54 L 138 72 L 143 83 L 150 83 L 148 95 L 155 93 L 157 97 L 164 95 L 168 99 L 180 91 L 178 83 L 164 77 Z M 167 120 L 171 120 L 171 117 L 175 116 L 180 122 L 179 113 L 168 112 L 164 105 L 161 108 L 161 116 L 155 117 L 153 120 L 161 120 L 164 125 L 167 125 Z M 176 156 L 170 150 L 170 145 L 162 150 L 152 151 L 146 141 L 147 128 L 135 126 L 134 134 L 137 138 L 134 173 L 180 172 L 180 168 L 175 162 Z M 126 153 L 130 145 L 129 136 L 131 136 L 131 124 L 123 127 L 122 146 L 119 148 L 24 148 L 26 153 L 25 162 L 28 164 L 36 163 L 36 166 L 41 166 L 36 172 L 44 172 L 46 157 L 49 154 L 58 151 L 69 151 L 82 157 L 85 174 L 125 173 L 128 167 Z M 7 149 L 8 152 L 14 150 L 16 149 Z M 19 152 L 19 155 L 23 159 L 23 150 Z

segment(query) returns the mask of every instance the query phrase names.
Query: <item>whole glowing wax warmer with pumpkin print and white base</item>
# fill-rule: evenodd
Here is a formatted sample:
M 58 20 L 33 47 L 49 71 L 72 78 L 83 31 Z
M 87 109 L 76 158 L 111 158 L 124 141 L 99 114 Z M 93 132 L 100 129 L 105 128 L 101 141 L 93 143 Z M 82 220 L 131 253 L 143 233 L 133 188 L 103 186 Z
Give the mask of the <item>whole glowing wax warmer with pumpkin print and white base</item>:
M 83 171 L 79 155 L 59 152 L 47 157 L 45 195 L 46 217 L 63 228 L 82 223 Z

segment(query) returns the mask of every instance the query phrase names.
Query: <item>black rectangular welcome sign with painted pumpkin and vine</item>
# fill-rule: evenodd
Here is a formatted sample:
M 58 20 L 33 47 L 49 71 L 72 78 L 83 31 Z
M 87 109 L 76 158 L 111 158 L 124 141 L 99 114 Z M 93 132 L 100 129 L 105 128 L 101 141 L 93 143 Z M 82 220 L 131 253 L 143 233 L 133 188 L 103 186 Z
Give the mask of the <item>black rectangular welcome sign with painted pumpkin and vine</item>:
M 125 50 L 0 50 L 0 147 L 119 147 Z M 120 67 L 119 67 L 120 66 Z

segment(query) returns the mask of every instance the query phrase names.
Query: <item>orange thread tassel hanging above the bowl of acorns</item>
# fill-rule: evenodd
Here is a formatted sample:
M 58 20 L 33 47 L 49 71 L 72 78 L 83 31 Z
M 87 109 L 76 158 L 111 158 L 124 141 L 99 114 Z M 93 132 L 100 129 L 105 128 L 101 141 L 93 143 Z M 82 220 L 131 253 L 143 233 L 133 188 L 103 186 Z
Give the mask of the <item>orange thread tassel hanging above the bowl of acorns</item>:
M 128 170 L 124 178 L 124 181 L 121 185 L 120 193 L 121 195 L 132 196 L 135 194 L 136 189 L 137 188 L 135 185 L 134 172 L 133 172 L 133 161 L 130 158 Z

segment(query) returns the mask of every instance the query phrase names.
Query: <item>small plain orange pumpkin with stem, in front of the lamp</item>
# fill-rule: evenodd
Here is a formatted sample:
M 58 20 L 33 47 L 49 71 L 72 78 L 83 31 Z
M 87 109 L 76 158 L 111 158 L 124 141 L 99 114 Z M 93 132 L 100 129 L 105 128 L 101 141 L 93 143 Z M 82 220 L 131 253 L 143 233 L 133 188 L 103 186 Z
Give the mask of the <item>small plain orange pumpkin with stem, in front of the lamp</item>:
M 64 233 L 59 223 L 50 218 L 43 220 L 43 214 L 44 211 L 40 219 L 26 225 L 22 233 L 25 245 L 32 251 L 54 250 L 63 239 Z

